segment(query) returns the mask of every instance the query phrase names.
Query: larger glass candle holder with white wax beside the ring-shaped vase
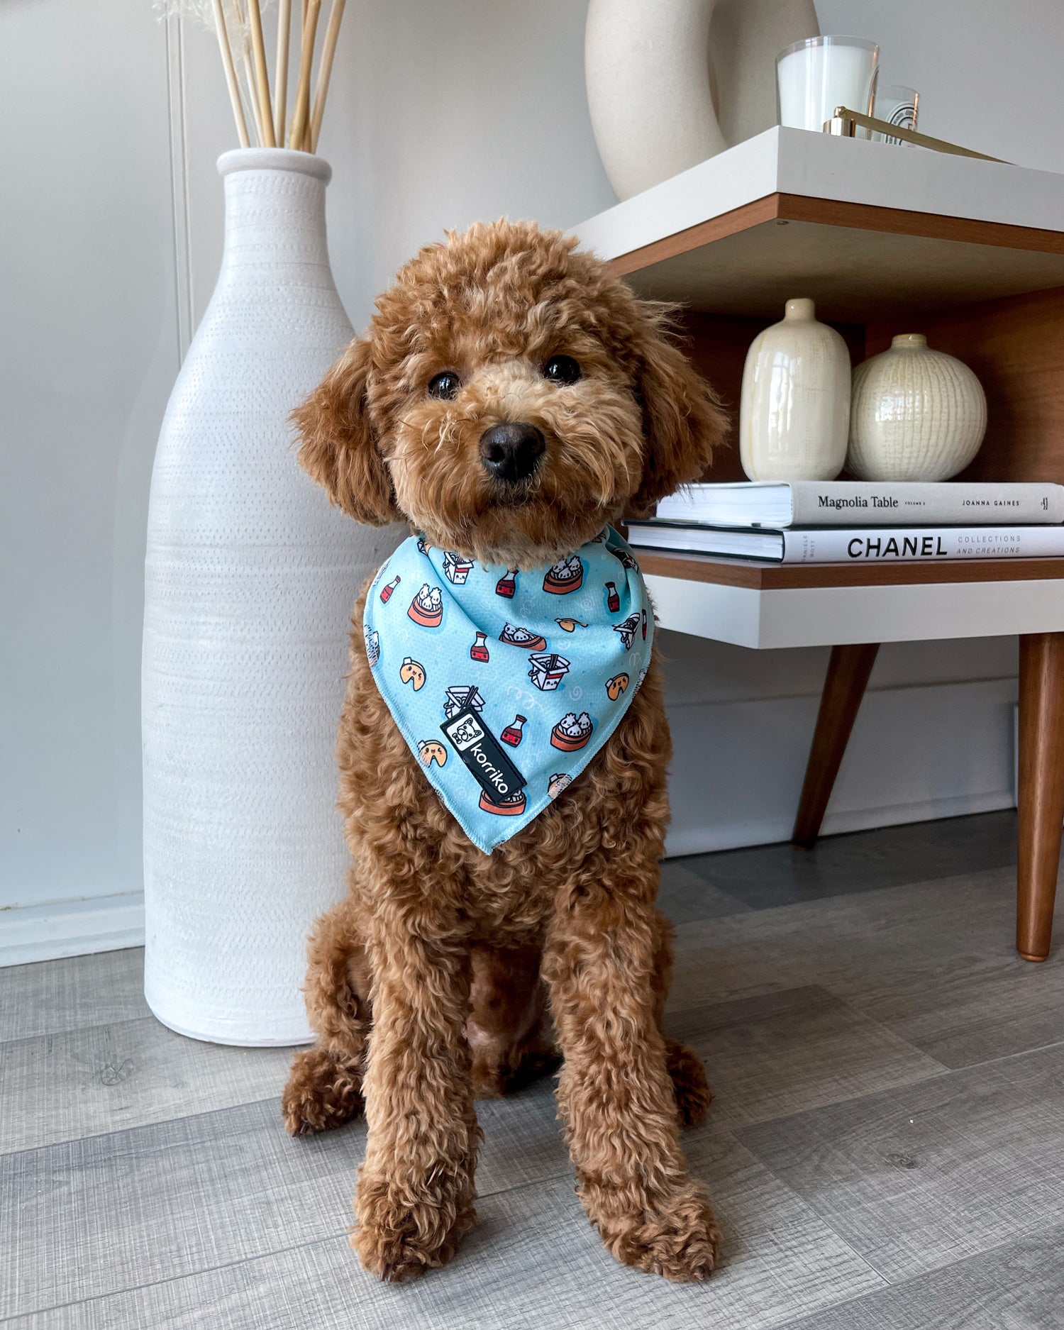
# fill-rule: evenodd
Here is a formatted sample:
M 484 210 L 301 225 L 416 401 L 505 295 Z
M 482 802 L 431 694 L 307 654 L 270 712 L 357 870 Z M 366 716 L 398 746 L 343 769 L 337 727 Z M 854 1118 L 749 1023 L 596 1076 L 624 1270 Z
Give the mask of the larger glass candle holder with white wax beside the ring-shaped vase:
M 775 57 L 779 124 L 818 134 L 835 106 L 871 116 L 879 47 L 863 37 L 807 37 Z M 864 132 L 862 132 L 864 133 Z

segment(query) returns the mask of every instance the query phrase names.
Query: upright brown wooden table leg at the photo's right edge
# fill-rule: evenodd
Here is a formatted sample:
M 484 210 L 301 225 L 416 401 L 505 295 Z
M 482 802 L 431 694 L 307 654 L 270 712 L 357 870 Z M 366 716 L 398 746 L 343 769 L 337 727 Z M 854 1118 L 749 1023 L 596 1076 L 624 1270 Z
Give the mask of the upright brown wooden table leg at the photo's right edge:
M 1016 950 L 1045 960 L 1064 822 L 1064 633 L 1020 638 L 1020 841 Z

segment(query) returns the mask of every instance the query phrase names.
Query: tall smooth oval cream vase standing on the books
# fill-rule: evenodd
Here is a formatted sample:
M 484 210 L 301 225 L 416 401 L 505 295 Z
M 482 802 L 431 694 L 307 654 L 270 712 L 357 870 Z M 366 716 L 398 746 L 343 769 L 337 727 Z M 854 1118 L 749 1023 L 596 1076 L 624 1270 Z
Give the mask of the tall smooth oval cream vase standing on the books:
M 739 460 L 751 480 L 834 480 L 846 460 L 850 352 L 817 322 L 813 301 L 787 301 L 783 319 L 746 352 Z

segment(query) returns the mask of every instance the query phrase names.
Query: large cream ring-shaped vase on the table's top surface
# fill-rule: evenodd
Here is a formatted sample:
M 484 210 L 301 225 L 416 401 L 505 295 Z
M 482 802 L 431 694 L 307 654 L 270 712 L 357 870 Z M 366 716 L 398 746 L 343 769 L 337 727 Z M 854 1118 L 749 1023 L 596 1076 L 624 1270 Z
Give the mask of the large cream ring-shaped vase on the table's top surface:
M 775 57 L 818 33 L 813 0 L 591 0 L 588 109 L 617 197 L 770 129 Z

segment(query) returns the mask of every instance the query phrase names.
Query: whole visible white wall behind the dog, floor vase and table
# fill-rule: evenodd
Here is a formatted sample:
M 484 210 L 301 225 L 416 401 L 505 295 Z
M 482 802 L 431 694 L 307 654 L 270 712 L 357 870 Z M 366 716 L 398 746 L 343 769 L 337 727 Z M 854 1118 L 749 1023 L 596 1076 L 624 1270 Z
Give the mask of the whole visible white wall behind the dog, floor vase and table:
M 1064 170 L 1056 0 L 821 0 L 883 47 L 922 128 Z M 613 202 L 577 0 L 348 8 L 321 150 L 352 321 L 420 243 L 477 217 L 569 226 Z M 234 145 L 213 39 L 148 0 L 0 9 L 0 948 L 136 934 L 138 672 L 152 454 L 221 254 Z M 25 126 L 12 132 L 12 126 Z M 787 834 L 825 653 L 672 636 L 673 851 Z M 829 829 L 1009 802 L 1015 645 L 884 648 Z M 70 902 L 84 902 L 73 912 Z M 74 922 L 72 922 L 74 920 Z M 65 940 L 64 940 L 65 939 Z

